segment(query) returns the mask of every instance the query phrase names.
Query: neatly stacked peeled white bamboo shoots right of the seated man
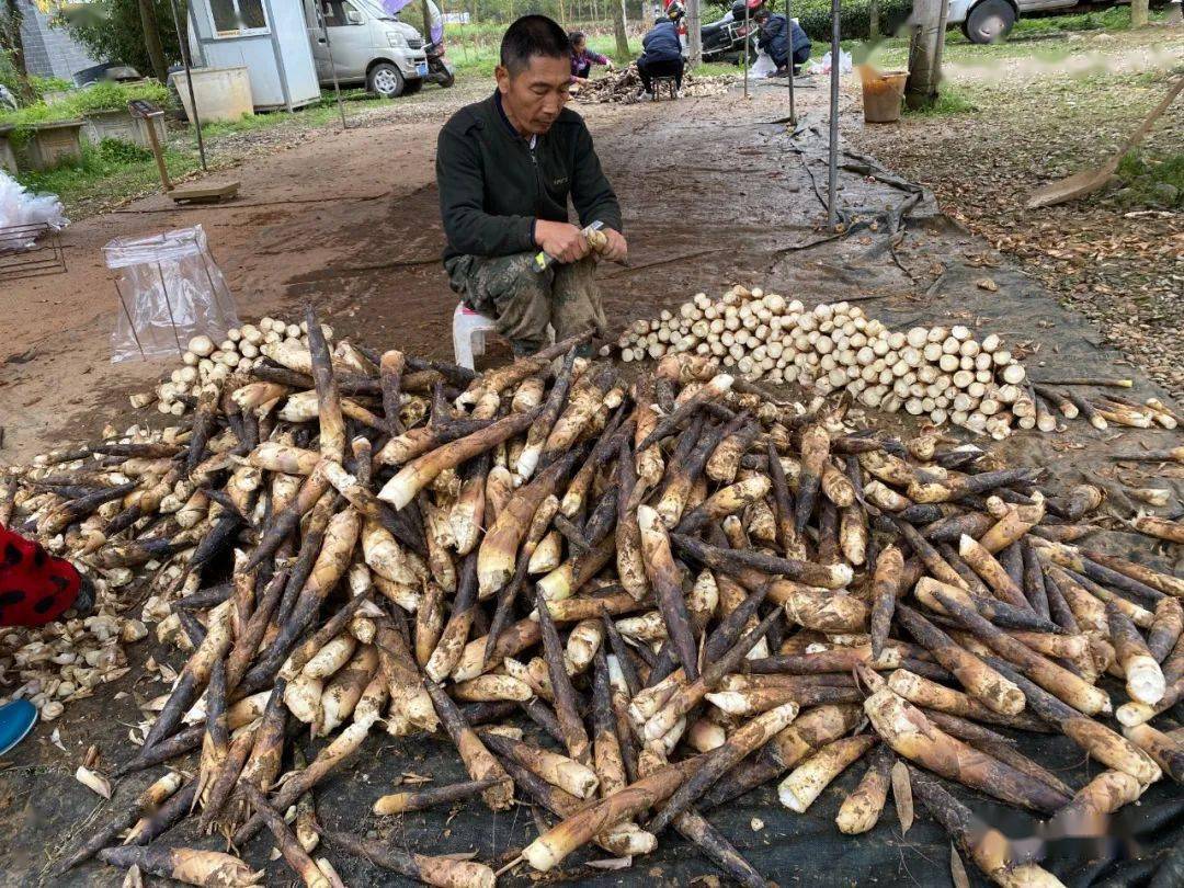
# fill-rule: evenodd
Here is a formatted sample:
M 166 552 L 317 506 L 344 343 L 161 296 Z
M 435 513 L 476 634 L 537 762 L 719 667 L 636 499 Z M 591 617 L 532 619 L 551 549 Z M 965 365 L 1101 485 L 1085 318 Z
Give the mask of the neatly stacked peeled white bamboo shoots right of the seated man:
M 719 300 L 700 292 L 677 311 L 635 321 L 617 347 L 625 362 L 671 353 L 713 356 L 753 382 L 797 382 L 819 394 L 847 391 L 868 407 L 903 410 L 996 440 L 1012 426 L 1063 430 L 1057 414 L 1083 416 L 1098 429 L 1111 423 L 1175 429 L 1178 422 L 1158 401 L 1140 405 L 1117 395 L 1088 401 L 1072 388 L 1034 384 L 993 333 L 976 339 L 960 324 L 890 330 L 857 304 L 806 308 L 739 284 Z

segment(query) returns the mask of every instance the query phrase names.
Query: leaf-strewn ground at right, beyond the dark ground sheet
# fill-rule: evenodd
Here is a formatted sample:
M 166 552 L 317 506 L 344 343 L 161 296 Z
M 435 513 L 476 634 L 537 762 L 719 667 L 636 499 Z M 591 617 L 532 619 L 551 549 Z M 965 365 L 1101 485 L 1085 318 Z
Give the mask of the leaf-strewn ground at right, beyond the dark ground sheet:
M 942 212 L 1096 323 L 1105 341 L 1177 398 L 1184 395 L 1184 197 L 1134 195 L 1121 184 L 1086 200 L 1027 210 L 1029 192 L 1101 165 L 1184 73 L 1184 31 L 1050 34 L 992 47 L 944 73 L 973 105 L 848 129 L 864 150 L 933 189 Z M 959 47 L 964 49 L 964 47 Z M 992 64 L 993 60 L 993 64 Z M 1184 103 L 1173 103 L 1140 152 L 1178 155 Z

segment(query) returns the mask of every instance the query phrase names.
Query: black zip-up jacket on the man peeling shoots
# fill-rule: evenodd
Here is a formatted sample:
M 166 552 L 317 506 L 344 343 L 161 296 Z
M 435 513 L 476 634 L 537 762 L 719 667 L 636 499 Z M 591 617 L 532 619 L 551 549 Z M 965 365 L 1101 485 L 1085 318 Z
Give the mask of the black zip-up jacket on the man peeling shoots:
M 536 249 L 534 220 L 622 230 L 620 205 L 600 170 L 584 118 L 565 108 L 532 149 L 502 112 L 497 92 L 457 111 L 436 148 L 440 217 L 453 256 L 508 256 Z

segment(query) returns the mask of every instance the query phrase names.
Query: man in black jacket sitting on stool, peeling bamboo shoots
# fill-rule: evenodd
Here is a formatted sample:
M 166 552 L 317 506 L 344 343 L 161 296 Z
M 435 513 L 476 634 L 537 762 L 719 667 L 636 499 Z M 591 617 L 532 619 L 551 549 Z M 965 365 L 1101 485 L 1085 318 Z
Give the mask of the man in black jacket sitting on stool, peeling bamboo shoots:
M 436 184 L 448 246 L 449 285 L 493 317 L 515 355 L 538 352 L 547 327 L 562 340 L 607 328 L 580 225 L 604 224 L 604 259 L 623 262 L 620 205 L 571 98 L 572 46 L 545 15 L 523 15 L 502 38 L 497 89 L 462 108 L 440 130 Z M 542 250 L 558 262 L 535 269 Z M 591 352 L 585 347 L 585 352 Z

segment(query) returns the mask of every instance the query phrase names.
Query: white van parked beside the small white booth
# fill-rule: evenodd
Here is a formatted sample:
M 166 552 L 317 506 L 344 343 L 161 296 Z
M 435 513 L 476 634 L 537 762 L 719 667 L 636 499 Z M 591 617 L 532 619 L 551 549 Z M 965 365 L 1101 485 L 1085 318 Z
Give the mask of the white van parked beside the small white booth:
M 322 86 L 333 85 L 334 70 L 342 85 L 365 84 L 385 98 L 414 92 L 423 85 L 427 76 L 424 38 L 411 25 L 398 21 L 380 0 L 303 1 Z

